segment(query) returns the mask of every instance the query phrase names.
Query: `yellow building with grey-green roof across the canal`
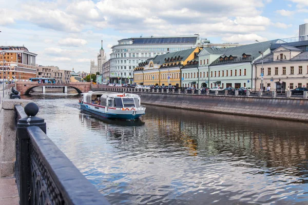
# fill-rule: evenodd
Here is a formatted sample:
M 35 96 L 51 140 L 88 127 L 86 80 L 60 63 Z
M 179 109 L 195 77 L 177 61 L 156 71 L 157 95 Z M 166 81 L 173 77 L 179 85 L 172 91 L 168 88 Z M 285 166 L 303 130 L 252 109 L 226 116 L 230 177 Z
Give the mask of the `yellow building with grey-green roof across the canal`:
M 140 85 L 181 85 L 181 68 L 197 57 L 201 48 L 157 55 L 140 63 L 133 72 L 133 81 Z

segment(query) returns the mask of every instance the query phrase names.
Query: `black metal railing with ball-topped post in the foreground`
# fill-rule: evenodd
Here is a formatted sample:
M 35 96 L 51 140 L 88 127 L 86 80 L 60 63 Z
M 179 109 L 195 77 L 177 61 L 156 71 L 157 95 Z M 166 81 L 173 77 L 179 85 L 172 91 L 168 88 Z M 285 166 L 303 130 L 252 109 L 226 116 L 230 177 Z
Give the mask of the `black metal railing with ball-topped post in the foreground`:
M 38 107 L 15 105 L 15 177 L 20 204 L 109 204 L 46 135 Z

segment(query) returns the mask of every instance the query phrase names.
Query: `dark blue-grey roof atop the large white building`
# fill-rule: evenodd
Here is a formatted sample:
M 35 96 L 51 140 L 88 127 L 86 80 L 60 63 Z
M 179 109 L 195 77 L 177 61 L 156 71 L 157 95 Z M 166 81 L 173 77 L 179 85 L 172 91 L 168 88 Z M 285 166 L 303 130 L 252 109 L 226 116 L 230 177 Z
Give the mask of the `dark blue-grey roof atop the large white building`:
M 148 37 L 131 38 L 132 44 L 196 44 L 198 36 L 194 37 Z

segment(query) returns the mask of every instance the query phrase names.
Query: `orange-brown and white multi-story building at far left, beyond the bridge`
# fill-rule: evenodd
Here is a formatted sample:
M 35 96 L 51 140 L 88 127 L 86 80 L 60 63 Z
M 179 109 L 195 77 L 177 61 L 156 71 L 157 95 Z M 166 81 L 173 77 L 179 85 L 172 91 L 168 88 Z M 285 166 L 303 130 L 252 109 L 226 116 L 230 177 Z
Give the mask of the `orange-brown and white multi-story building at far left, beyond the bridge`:
M 24 46 L 0 47 L 0 80 L 29 80 L 36 76 L 35 57 Z

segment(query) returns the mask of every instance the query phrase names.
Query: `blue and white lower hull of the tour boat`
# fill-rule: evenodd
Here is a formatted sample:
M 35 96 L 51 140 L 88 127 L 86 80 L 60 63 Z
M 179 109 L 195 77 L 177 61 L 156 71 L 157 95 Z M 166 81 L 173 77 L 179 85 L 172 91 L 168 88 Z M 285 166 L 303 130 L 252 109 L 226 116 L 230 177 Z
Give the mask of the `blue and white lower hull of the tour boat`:
M 93 107 L 93 108 L 92 108 Z M 135 120 L 140 118 L 140 116 L 145 113 L 136 113 L 133 114 L 133 111 L 122 111 L 123 114 L 120 113 L 109 113 L 103 110 L 94 109 L 95 106 L 89 106 L 86 104 L 80 104 L 80 109 L 90 112 L 92 114 L 98 115 L 100 117 L 110 118 L 110 119 L 125 119 L 125 120 Z M 120 111 L 121 112 L 121 111 Z

